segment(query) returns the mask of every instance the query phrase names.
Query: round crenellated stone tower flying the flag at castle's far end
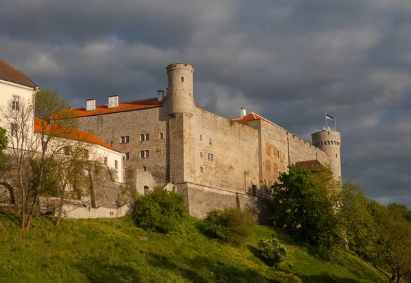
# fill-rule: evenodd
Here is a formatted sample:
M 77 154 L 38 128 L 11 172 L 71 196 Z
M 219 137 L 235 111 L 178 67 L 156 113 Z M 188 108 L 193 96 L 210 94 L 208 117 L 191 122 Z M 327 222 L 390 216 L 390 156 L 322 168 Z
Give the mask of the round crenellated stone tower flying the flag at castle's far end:
M 328 154 L 332 173 L 334 177 L 341 177 L 341 136 L 332 127 L 324 127 L 322 131 L 311 135 L 312 144 Z

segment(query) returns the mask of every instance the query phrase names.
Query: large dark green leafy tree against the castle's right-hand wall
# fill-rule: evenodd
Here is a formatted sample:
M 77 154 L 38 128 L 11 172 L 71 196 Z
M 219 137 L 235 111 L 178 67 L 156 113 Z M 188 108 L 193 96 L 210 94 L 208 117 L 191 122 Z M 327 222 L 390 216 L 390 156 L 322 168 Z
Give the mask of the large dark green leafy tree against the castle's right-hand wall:
M 273 188 L 273 220 L 288 232 L 325 251 L 327 262 L 344 243 L 340 182 L 328 167 L 315 173 L 291 165 Z

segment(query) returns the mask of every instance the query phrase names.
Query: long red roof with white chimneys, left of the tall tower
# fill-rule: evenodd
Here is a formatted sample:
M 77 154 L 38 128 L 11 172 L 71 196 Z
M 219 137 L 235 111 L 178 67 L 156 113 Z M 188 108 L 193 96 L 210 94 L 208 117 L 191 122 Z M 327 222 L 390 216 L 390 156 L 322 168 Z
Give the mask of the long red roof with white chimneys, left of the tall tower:
M 108 105 L 106 104 L 103 106 L 96 106 L 96 109 L 93 111 L 86 111 L 85 107 L 75 108 L 75 109 L 71 109 L 67 111 L 73 112 L 73 114 L 77 117 L 84 117 L 84 116 L 95 116 L 95 115 L 101 115 L 101 114 L 155 108 L 155 107 L 160 107 L 162 105 L 163 103 L 158 102 L 157 98 L 150 98 L 150 99 L 142 99 L 142 100 L 136 100 L 136 101 L 119 102 L 119 106 L 117 106 L 116 108 L 110 108 L 110 109 L 108 108 Z

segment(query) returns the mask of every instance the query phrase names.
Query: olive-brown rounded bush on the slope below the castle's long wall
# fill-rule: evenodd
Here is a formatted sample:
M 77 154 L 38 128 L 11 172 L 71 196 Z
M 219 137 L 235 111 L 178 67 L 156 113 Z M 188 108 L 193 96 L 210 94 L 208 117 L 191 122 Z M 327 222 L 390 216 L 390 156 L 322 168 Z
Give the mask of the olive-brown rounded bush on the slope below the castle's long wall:
M 212 238 L 219 238 L 227 243 L 239 245 L 245 237 L 249 236 L 256 220 L 251 210 L 212 210 L 203 220 L 203 230 Z

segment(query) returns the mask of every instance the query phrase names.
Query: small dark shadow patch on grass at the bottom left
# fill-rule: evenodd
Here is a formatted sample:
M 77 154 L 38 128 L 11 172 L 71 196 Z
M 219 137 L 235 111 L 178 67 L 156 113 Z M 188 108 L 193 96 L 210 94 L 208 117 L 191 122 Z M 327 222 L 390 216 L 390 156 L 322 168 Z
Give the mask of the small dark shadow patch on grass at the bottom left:
M 140 272 L 132 267 L 121 264 L 103 262 L 98 258 L 90 258 L 74 264 L 82 274 L 86 275 L 88 282 L 140 282 Z

